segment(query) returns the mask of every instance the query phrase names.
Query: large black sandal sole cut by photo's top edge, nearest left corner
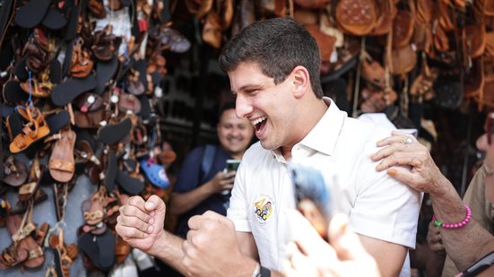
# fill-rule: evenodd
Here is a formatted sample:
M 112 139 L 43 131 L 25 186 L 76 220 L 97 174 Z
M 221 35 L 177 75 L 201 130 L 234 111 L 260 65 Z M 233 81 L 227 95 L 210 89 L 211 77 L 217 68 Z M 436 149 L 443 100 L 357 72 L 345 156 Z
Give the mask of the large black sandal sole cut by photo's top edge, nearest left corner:
M 45 17 L 49 4 L 51 0 L 30 0 L 15 13 L 13 22 L 24 29 L 34 28 Z

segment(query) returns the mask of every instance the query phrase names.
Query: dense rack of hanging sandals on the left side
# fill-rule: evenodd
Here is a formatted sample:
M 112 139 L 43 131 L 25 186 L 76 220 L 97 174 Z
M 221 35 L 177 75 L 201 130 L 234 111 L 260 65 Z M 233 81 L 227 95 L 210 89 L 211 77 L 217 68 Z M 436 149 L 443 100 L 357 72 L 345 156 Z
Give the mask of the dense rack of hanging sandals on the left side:
M 171 28 L 168 2 L 4 0 L 0 9 L 1 274 L 80 275 L 76 260 L 116 274 L 134 263 L 114 230 L 118 208 L 169 186 L 175 153 L 162 149 L 155 106 L 164 53 L 190 43 Z

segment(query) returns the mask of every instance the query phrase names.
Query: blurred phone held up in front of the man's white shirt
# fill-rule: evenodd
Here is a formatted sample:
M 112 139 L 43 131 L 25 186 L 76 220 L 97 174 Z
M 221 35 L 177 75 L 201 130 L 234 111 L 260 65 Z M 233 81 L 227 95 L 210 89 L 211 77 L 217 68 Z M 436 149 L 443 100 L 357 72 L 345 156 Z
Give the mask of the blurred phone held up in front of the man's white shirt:
M 333 215 L 331 195 L 321 171 L 299 163 L 289 163 L 297 209 L 327 241 L 327 228 Z

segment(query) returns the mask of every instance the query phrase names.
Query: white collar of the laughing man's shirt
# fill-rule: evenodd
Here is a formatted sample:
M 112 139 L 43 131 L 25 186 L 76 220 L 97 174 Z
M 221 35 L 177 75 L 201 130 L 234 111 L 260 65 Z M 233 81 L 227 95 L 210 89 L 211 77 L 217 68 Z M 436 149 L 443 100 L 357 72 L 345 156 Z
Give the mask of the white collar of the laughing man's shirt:
M 323 97 L 323 100 L 328 106 L 325 115 L 321 117 L 316 126 L 298 144 L 326 155 L 331 155 L 336 146 L 338 136 L 342 132 L 346 113 L 336 107 L 334 101 L 329 97 Z M 275 149 L 272 153 L 274 159 L 280 162 L 286 162 L 280 149 Z

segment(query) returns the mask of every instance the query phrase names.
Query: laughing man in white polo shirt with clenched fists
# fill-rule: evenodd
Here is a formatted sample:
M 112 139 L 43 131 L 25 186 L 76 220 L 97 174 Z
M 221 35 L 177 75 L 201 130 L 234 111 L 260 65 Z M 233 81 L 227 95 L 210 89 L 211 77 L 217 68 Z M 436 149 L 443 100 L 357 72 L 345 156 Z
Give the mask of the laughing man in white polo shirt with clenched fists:
M 120 209 L 118 234 L 187 275 L 277 275 L 295 208 L 287 161 L 307 158 L 338 180 L 329 185 L 336 212 L 349 216 L 383 276 L 410 275 L 405 259 L 415 245 L 420 195 L 369 159 L 391 131 L 348 117 L 323 97 L 321 58 L 308 30 L 289 18 L 255 22 L 225 45 L 220 64 L 237 116 L 259 139 L 238 168 L 228 219 L 215 212 L 192 217 L 182 241 L 162 230 L 160 199 L 134 197 Z

